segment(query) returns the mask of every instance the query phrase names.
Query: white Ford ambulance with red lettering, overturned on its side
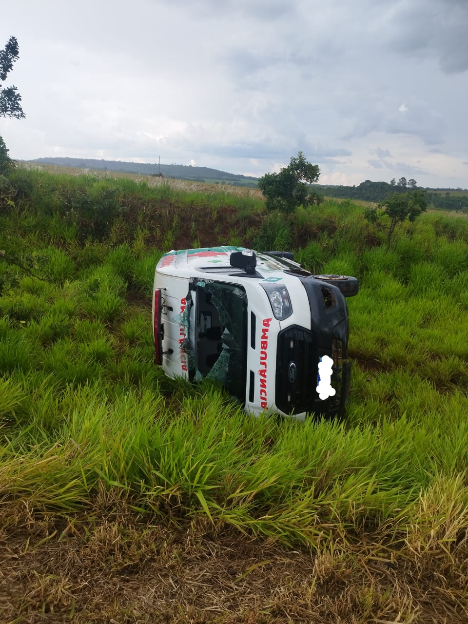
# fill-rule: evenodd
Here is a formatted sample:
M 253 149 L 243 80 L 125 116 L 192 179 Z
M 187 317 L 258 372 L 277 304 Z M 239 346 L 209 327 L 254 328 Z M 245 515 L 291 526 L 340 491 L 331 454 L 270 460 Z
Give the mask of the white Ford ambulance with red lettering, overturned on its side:
M 172 378 L 217 380 L 253 414 L 343 414 L 345 297 L 358 288 L 353 277 L 312 275 L 288 252 L 170 251 L 154 277 L 156 363 Z

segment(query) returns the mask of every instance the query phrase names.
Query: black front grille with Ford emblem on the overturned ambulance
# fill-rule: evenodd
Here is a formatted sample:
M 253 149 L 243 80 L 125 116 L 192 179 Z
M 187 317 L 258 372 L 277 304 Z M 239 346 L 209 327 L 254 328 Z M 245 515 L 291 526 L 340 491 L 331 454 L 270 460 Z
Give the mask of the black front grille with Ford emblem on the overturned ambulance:
M 278 334 L 276 406 L 286 414 L 312 411 L 317 396 L 316 336 L 299 327 Z

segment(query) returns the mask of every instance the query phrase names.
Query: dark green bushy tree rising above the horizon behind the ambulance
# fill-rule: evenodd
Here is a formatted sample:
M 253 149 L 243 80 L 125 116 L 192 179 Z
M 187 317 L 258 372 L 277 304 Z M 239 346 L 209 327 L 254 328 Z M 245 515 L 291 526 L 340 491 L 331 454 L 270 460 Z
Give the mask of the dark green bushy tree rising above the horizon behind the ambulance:
M 266 208 L 293 212 L 298 206 L 320 203 L 322 198 L 317 193 L 310 193 L 306 184 L 317 182 L 319 175 L 318 165 L 308 162 L 304 154 L 298 152 L 280 173 L 265 173 L 258 180 L 258 188 L 266 198 Z

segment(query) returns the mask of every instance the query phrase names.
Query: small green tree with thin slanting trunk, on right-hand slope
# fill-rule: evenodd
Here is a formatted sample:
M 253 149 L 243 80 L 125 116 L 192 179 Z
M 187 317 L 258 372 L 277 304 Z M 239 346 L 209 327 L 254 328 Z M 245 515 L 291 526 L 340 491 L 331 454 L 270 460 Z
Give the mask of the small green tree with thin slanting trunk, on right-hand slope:
M 371 223 L 378 223 L 388 230 L 387 251 L 395 228 L 406 219 L 414 221 L 427 208 L 426 194 L 423 190 L 413 190 L 407 193 L 393 193 L 378 208 L 368 208 L 364 217 Z

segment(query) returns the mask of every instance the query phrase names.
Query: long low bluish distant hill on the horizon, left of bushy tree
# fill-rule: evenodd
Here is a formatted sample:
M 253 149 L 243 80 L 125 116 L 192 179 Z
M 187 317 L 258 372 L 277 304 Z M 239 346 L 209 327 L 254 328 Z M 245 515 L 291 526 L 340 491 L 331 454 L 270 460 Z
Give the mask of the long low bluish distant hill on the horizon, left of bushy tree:
M 227 173 L 209 167 L 192 167 L 192 165 L 158 165 L 158 163 L 124 162 L 123 160 L 98 160 L 97 158 L 36 158 L 29 162 L 42 165 L 60 165 L 61 167 L 78 167 L 101 171 L 119 171 L 124 173 L 140 173 L 153 175 L 158 170 L 165 178 L 177 180 L 193 180 L 194 182 L 214 182 L 232 184 L 242 187 L 256 187 L 258 178 L 237 173 Z

